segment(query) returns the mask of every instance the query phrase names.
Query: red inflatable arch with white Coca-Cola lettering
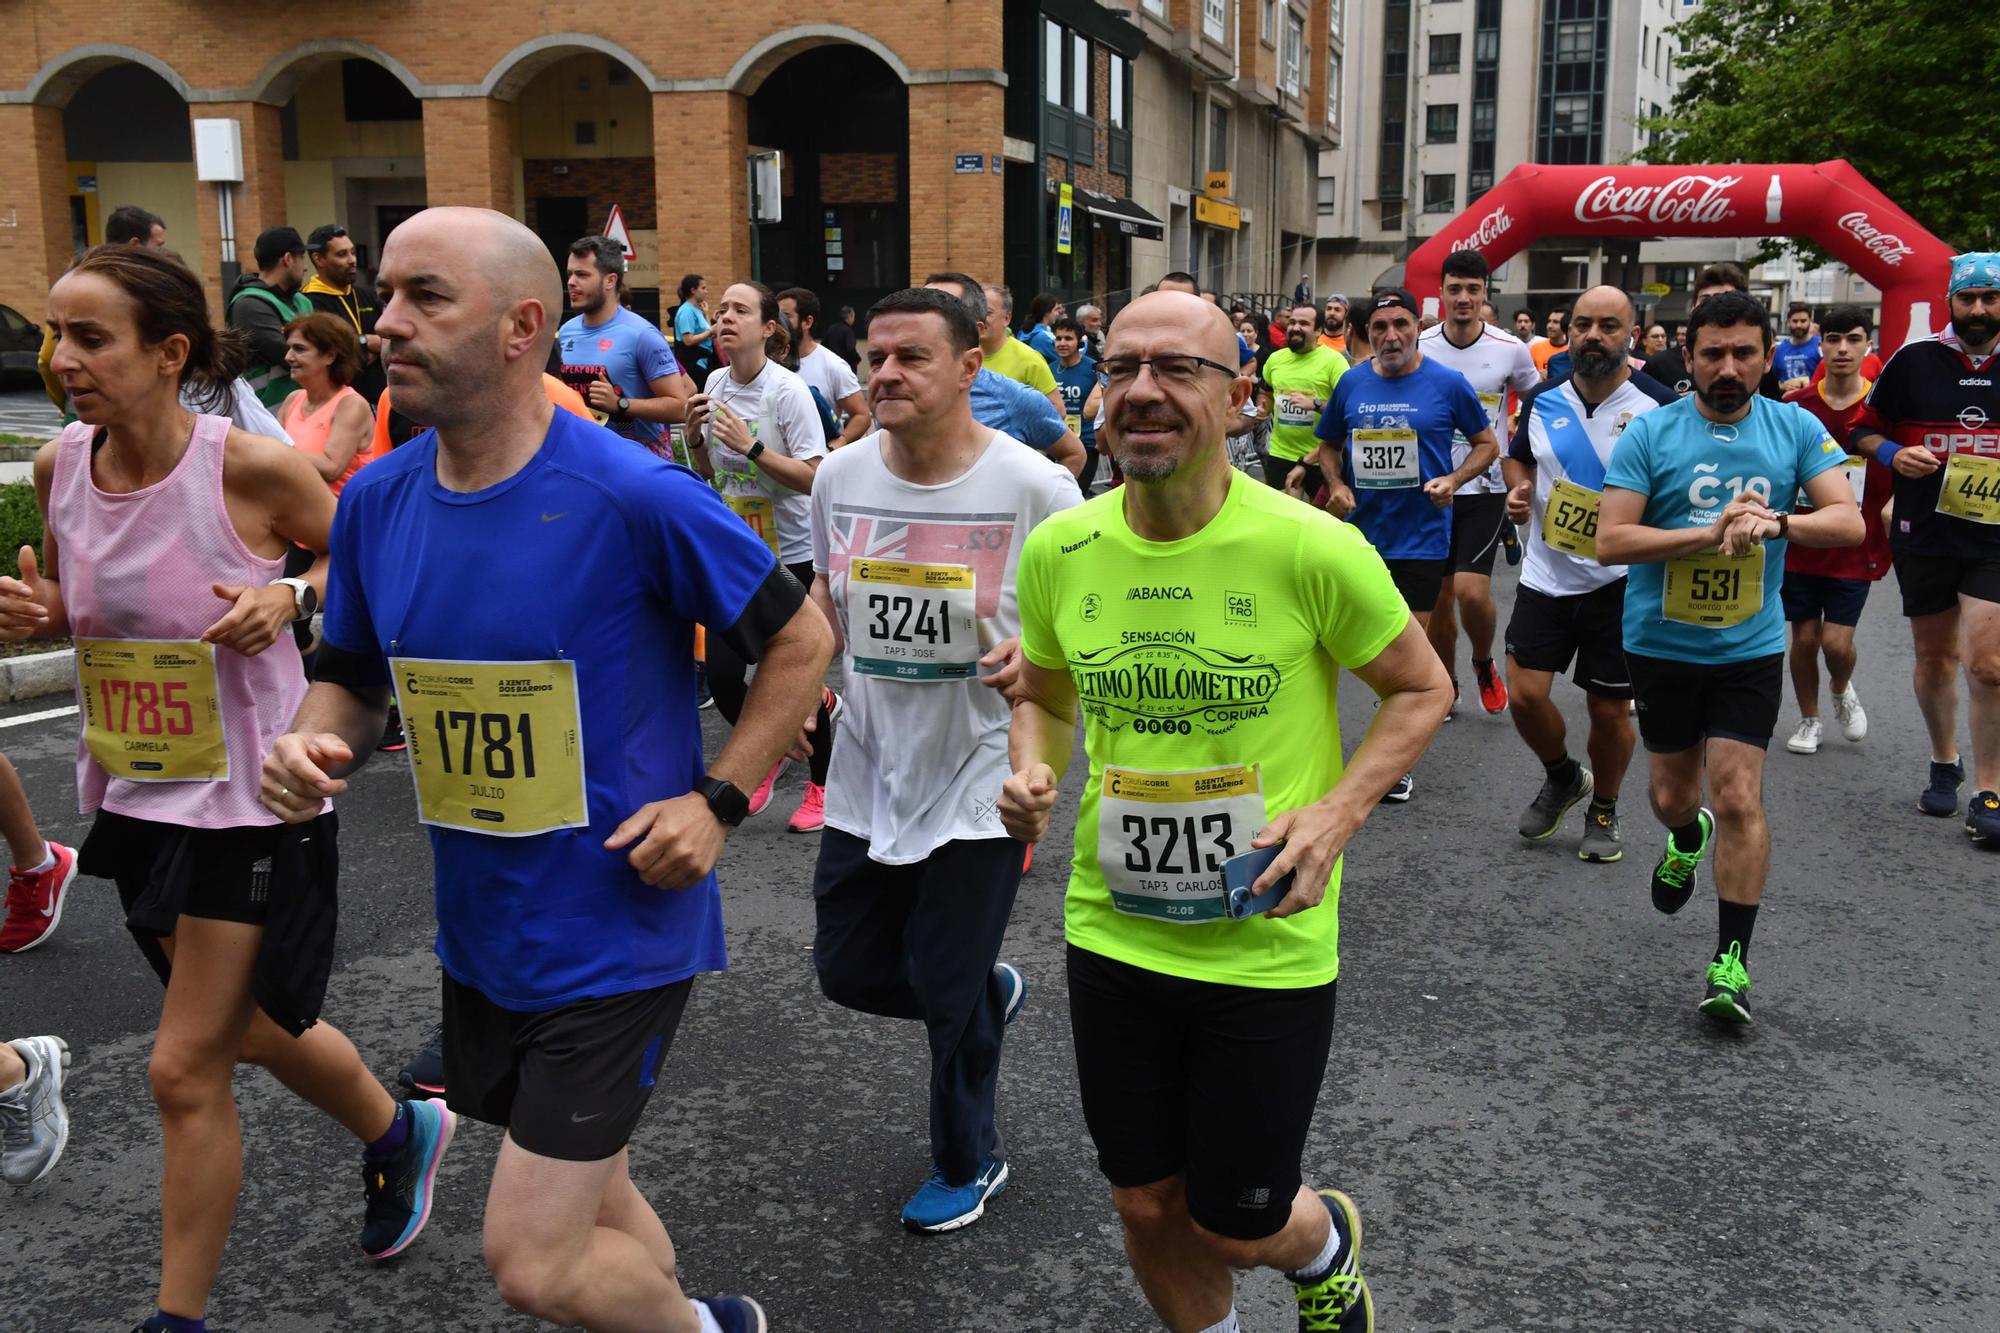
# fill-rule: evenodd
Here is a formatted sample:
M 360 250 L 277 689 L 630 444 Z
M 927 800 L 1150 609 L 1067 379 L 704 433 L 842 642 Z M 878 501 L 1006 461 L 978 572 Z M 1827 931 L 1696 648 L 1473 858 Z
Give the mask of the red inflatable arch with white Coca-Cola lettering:
M 1844 160 L 1788 166 L 1516 166 L 1410 254 L 1406 286 L 1438 312 L 1444 256 L 1500 266 L 1542 236 L 1804 236 L 1882 288 L 1882 354 L 1944 316 L 1952 250 Z

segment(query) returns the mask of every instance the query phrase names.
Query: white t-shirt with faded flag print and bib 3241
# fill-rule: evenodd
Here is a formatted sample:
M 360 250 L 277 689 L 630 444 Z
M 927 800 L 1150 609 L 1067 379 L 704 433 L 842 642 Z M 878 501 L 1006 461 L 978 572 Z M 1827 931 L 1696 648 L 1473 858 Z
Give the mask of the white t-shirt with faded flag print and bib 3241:
M 998 430 L 938 486 L 890 472 L 880 430 L 820 464 L 812 568 L 840 616 L 846 673 L 826 823 L 868 839 L 872 861 L 1006 837 L 1010 709 L 976 658 L 1020 634 L 1014 570 L 1028 532 L 1080 502 L 1066 468 Z

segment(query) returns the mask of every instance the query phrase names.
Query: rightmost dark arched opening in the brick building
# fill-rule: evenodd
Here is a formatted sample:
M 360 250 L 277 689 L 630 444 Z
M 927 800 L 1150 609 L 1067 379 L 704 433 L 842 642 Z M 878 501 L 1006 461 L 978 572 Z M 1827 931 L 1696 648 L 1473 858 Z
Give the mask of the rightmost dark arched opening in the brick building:
M 866 310 L 910 282 L 910 96 L 862 46 L 798 52 L 750 94 L 750 150 L 784 154 L 784 220 L 752 228 L 756 276 Z M 1000 226 L 1000 218 L 994 218 Z

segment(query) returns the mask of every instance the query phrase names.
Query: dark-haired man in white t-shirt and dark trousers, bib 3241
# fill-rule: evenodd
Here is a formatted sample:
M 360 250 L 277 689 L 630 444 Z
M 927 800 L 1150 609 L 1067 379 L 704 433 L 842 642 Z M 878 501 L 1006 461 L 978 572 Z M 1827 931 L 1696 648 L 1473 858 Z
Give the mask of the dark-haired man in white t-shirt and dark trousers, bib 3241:
M 956 1231 L 1006 1187 L 1000 1045 L 1028 985 L 1000 963 L 1022 845 L 1000 825 L 1030 528 L 1078 502 L 1070 472 L 972 416 L 978 322 L 908 288 L 868 312 L 878 430 L 812 486 L 812 598 L 846 673 L 812 879 L 812 957 L 836 1005 L 930 1035 L 930 1179 L 912 1231 Z M 980 669 L 1000 666 L 992 677 Z

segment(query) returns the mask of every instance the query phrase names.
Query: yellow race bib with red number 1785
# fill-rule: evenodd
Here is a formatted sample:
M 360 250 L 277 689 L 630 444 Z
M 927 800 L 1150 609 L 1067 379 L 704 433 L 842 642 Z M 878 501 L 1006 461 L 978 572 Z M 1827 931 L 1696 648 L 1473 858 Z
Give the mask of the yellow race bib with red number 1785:
M 130 783 L 226 783 L 216 644 L 198 638 L 78 638 L 84 749 Z

